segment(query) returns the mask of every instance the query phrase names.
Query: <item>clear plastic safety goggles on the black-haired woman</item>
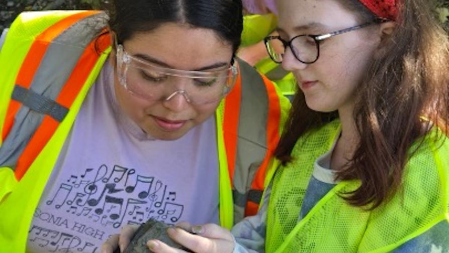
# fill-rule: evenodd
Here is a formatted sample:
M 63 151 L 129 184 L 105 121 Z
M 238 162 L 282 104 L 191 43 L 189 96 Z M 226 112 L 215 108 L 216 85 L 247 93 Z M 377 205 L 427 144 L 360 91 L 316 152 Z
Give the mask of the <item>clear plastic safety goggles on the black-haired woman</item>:
M 231 91 L 237 78 L 235 61 L 213 71 L 179 70 L 133 57 L 124 50 L 123 45 L 116 48 L 120 84 L 147 100 L 169 100 L 179 94 L 191 104 L 216 102 Z

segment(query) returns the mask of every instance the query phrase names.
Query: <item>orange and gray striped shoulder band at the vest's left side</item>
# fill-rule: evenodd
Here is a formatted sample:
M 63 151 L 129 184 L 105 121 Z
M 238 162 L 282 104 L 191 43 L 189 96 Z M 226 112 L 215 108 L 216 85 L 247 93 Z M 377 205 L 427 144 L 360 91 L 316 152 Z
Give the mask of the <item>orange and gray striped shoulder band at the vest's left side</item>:
M 64 14 L 64 15 L 63 15 Z M 50 26 L 41 27 L 20 63 L 3 123 L 0 166 L 14 170 L 20 180 L 64 120 L 102 52 L 110 46 L 109 35 L 97 37 L 106 25 L 106 15 L 96 11 L 47 12 Z M 19 21 L 26 27 L 23 18 Z M 25 23 L 24 23 L 25 22 Z M 43 22 L 44 23 L 44 22 Z M 19 26 L 16 26 L 19 27 Z M 14 32 L 15 26 L 10 31 Z M 8 50 L 6 41 L 4 50 Z M 2 51 L 3 54 L 3 51 Z M 61 64 L 63 62 L 64 64 Z M 95 79 L 95 78 L 94 78 Z

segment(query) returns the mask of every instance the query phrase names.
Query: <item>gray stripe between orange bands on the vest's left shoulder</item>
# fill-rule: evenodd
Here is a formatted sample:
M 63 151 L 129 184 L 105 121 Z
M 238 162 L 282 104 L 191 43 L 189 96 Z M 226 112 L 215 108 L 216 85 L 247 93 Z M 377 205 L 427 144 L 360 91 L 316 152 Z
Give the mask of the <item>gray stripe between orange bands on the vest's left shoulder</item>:
M 105 25 L 106 15 L 99 13 L 78 21 L 55 38 L 45 52 L 30 90 L 41 97 L 54 100 L 86 45 L 95 38 L 100 27 Z M 31 110 L 28 106 L 20 107 L 13 127 L 0 148 L 0 167 L 7 166 L 14 170 L 18 158 L 41 124 L 43 116 L 44 114 Z

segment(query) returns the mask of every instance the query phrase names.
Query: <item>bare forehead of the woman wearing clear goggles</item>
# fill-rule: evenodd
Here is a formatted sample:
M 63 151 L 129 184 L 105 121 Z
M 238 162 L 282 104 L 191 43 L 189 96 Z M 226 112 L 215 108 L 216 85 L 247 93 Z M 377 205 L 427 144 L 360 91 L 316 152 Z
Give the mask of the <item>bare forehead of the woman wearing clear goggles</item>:
M 232 45 L 224 43 L 213 30 L 176 24 L 137 33 L 123 44 L 132 56 L 148 56 L 159 65 L 176 69 L 200 69 L 228 63 L 232 58 Z

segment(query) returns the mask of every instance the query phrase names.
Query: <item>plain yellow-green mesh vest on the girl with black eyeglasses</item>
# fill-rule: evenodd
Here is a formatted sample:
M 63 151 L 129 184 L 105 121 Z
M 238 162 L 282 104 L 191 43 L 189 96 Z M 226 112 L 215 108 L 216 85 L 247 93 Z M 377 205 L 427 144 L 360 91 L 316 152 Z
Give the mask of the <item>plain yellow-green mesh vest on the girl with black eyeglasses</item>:
M 358 183 L 340 182 L 298 222 L 313 163 L 329 149 L 337 128 L 338 122 L 331 122 L 300 138 L 292 151 L 294 162 L 276 173 L 266 252 L 389 252 L 449 221 L 449 139 L 435 139 L 441 133 L 433 130 L 407 163 L 391 201 L 374 211 L 350 206 L 337 193 L 354 190 Z

